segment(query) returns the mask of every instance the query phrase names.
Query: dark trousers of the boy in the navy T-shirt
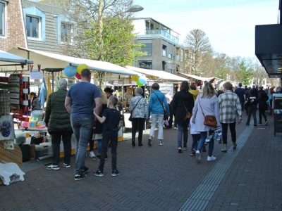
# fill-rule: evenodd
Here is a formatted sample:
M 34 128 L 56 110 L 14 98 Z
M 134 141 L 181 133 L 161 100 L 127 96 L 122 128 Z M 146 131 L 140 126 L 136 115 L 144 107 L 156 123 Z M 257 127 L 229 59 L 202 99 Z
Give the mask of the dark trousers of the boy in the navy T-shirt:
M 111 170 L 116 170 L 116 148 L 118 147 L 118 136 L 103 137 L 102 153 L 100 157 L 99 170 L 104 172 L 106 151 L 108 150 L 109 140 L 111 140 Z

